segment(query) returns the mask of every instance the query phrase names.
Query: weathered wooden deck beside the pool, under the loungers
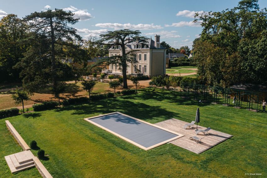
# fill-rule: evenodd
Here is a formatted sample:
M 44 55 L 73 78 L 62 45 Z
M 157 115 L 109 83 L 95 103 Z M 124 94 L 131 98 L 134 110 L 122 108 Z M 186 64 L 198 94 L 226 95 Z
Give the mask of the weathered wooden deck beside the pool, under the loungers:
M 171 141 L 170 143 L 182 147 L 184 149 L 187 149 L 194 153 L 202 153 L 205 150 L 214 147 L 215 145 L 227 140 L 228 138 L 232 137 L 232 135 L 222 133 L 215 130 L 210 130 L 208 135 L 204 135 L 202 132 L 198 135 L 195 134 L 195 129 L 197 125 L 194 125 L 194 128 L 187 128 L 183 129 L 183 126 L 185 124 L 188 124 L 188 122 L 178 120 L 178 119 L 169 119 L 162 122 L 158 122 L 155 125 L 161 126 L 163 128 L 166 128 L 171 131 L 175 131 L 177 133 L 183 134 L 183 137 L 180 137 L 176 140 Z M 204 130 L 206 127 L 198 125 L 198 129 Z M 196 143 L 193 140 L 189 140 L 190 137 L 197 136 L 201 139 L 200 143 Z

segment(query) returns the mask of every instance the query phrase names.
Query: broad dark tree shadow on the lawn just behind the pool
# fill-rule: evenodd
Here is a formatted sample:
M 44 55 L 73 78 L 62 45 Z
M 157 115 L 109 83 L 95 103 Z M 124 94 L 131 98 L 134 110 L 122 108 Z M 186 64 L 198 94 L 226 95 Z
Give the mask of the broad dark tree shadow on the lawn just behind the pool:
M 108 98 L 99 101 L 93 101 L 84 105 L 73 105 L 63 108 L 57 108 L 56 112 L 62 112 L 66 110 L 73 110 L 72 114 L 84 115 L 93 113 L 112 113 L 121 112 L 141 120 L 159 120 L 156 117 L 164 118 L 168 120 L 171 118 L 178 118 L 178 114 L 172 111 L 168 111 L 161 106 L 150 106 L 144 103 L 134 103 L 129 100 L 121 100 L 117 98 Z M 162 121 L 162 120 L 159 120 Z

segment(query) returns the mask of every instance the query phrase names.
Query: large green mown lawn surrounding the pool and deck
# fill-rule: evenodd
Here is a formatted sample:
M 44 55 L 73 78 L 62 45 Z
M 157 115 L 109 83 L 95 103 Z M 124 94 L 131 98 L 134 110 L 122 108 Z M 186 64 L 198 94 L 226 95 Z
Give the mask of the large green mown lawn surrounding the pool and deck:
M 233 135 L 195 154 L 172 144 L 144 151 L 84 118 L 119 111 L 156 123 L 176 118 L 191 122 L 200 108 L 204 127 Z M 267 114 L 180 98 L 178 92 L 149 87 L 138 94 L 109 98 L 7 118 L 24 140 L 36 140 L 49 159 L 53 177 L 245 177 L 267 173 Z M 21 148 L 0 120 L 0 175 L 36 177 L 35 168 L 11 175 L 4 156 Z M 3 140 L 2 140 L 3 139 Z M 37 150 L 32 150 L 36 155 Z

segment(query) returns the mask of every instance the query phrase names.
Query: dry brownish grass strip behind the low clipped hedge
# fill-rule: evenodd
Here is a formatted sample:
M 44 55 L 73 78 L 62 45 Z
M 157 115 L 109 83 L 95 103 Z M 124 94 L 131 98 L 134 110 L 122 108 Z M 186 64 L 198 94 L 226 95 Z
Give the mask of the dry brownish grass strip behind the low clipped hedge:
M 44 89 L 34 93 L 34 95 L 30 97 L 31 99 L 29 101 L 25 101 L 24 105 L 30 105 L 50 100 L 57 101 L 57 99 L 53 96 L 51 90 L 51 86 L 47 86 Z M 97 82 L 92 94 L 104 92 L 113 92 L 113 90 L 109 88 L 108 83 Z M 17 105 L 14 103 L 11 97 L 11 95 L 14 93 L 14 91 L 0 92 L 0 109 L 22 106 L 22 104 Z M 81 82 L 68 83 L 66 91 L 61 95 L 61 99 L 81 96 L 88 96 L 88 93 L 82 89 Z

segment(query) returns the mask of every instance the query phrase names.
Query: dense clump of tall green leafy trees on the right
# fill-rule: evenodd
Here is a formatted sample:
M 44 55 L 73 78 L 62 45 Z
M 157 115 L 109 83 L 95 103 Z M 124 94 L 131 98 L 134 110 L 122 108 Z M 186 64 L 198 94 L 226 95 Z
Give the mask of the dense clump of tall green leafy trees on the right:
M 210 85 L 267 84 L 267 10 L 257 0 L 195 15 L 201 36 L 193 42 L 199 79 Z

